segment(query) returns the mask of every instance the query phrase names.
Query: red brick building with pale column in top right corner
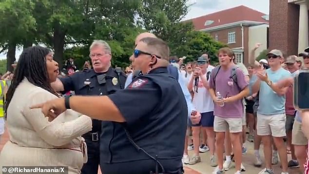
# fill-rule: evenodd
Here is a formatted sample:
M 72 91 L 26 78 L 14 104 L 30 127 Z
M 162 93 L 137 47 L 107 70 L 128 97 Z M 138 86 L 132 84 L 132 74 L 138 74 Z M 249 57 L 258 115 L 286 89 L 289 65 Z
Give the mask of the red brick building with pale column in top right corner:
M 297 55 L 308 47 L 309 0 L 270 0 L 270 49 Z

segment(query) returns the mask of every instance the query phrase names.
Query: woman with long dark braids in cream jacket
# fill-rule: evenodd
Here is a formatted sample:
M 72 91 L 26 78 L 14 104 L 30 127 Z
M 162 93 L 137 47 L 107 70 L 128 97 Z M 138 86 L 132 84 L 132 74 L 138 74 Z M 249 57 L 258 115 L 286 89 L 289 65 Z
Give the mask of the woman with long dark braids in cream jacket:
M 47 48 L 34 46 L 21 53 L 7 92 L 10 139 L 1 151 L 0 166 L 68 166 L 69 174 L 80 174 L 87 160 L 81 135 L 92 129 L 91 118 L 70 110 L 53 119 L 30 109 L 59 97 L 50 85 L 58 74 L 58 63 Z

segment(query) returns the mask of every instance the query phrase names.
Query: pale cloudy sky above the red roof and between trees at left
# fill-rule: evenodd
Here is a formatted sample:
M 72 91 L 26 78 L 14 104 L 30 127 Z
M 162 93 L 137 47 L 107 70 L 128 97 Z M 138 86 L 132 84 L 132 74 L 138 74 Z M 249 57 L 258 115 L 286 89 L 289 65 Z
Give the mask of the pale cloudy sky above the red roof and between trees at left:
M 208 15 L 221 10 L 245 5 L 254 10 L 269 14 L 270 0 L 188 0 L 189 7 L 187 16 L 183 19 L 192 19 L 199 16 Z M 16 59 L 19 58 L 21 49 L 16 50 Z M 5 54 L 0 54 L 0 59 L 6 58 Z

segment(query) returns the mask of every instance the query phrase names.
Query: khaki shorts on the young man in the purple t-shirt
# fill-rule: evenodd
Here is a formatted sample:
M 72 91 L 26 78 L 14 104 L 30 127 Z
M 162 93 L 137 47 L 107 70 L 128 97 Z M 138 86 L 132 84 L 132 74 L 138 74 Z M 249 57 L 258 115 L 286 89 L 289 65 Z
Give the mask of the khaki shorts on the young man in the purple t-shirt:
M 214 132 L 226 132 L 227 130 L 230 130 L 230 133 L 242 132 L 242 118 L 214 116 L 213 130 Z

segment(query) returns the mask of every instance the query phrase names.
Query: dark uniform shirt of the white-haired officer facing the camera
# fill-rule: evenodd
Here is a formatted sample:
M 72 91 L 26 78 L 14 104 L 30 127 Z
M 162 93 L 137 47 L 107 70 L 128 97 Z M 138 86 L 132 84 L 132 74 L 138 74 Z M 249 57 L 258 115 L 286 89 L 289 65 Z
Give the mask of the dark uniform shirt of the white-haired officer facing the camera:
M 98 82 L 98 75 L 106 75 L 105 83 Z M 76 72 L 70 77 L 59 78 L 64 87 L 64 93 L 75 91 L 80 96 L 100 96 L 109 95 L 120 90 L 120 85 L 124 85 L 126 76 L 120 73 L 120 81 L 118 74 L 114 68 L 109 68 L 105 73 L 96 73 L 93 69 Z M 114 81 L 114 82 L 113 82 Z M 117 83 L 116 83 L 116 82 Z M 93 119 L 92 132 L 101 131 L 101 121 Z

